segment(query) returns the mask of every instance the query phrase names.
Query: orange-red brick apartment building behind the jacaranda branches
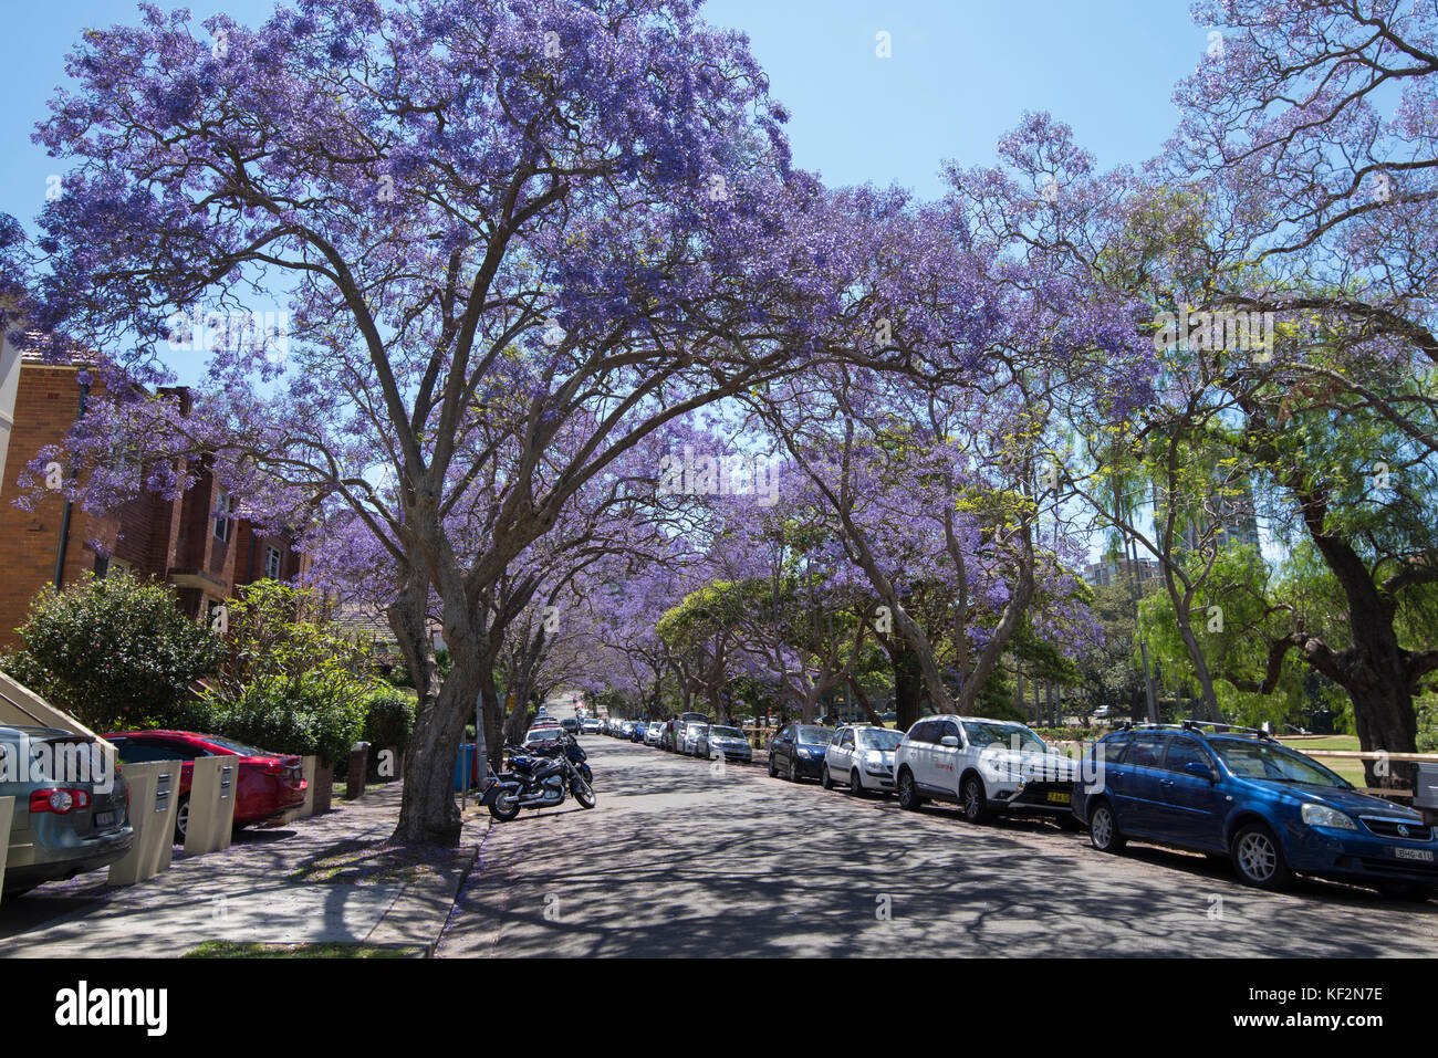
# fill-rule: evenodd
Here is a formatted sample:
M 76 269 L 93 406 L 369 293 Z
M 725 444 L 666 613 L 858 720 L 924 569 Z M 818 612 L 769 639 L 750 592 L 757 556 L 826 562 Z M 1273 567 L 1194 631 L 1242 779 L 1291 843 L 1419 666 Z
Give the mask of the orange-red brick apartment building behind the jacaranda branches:
M 86 572 L 127 569 L 167 581 L 198 620 L 239 585 L 302 571 L 288 539 L 260 535 L 244 519 L 214 516 L 230 500 L 204 470 L 174 500 L 144 493 L 104 516 L 70 505 L 66 519 L 59 493 L 33 512 L 16 507 L 17 479 L 81 414 L 78 375 L 76 365 L 45 364 L 0 346 L 0 648 L 17 645 L 14 628 L 45 584 L 72 584 Z M 183 390 L 173 397 L 188 400 Z

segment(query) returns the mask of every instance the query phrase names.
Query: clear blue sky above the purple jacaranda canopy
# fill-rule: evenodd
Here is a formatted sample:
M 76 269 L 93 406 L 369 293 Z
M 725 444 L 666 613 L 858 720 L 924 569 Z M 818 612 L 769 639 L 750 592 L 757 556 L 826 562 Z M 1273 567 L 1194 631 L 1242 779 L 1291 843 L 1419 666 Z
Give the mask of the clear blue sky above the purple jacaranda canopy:
M 257 23 L 273 0 L 157 0 L 197 19 Z M 0 210 L 32 223 L 59 170 L 30 142 L 83 29 L 135 22 L 129 0 L 3 0 Z M 1176 121 L 1173 83 L 1206 46 L 1186 0 L 710 0 L 706 17 L 749 34 L 774 93 L 792 111 L 795 161 L 830 184 L 939 191 L 948 158 L 994 158 L 1022 112 L 1074 126 L 1100 165 L 1155 154 Z M 876 56 L 876 34 L 892 58 Z

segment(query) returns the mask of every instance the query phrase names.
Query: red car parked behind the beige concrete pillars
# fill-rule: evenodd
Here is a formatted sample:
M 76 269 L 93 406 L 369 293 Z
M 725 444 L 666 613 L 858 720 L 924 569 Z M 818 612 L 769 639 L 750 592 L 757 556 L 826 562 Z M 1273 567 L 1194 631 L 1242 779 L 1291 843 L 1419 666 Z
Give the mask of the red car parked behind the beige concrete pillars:
M 298 756 L 270 753 L 217 735 L 194 732 L 116 732 L 104 735 L 115 746 L 121 763 L 145 760 L 194 760 L 201 756 L 239 758 L 234 795 L 234 829 L 282 815 L 305 804 L 305 765 Z M 184 844 L 190 821 L 190 783 L 194 765 L 180 769 L 180 804 L 175 808 L 175 844 Z

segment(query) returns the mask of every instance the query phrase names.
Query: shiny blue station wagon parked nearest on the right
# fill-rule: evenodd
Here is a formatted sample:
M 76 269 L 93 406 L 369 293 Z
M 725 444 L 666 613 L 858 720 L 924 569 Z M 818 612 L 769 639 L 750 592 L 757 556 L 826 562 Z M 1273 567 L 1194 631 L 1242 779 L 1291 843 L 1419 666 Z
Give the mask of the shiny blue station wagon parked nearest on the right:
M 1225 855 L 1260 888 L 1310 874 L 1415 900 L 1438 891 L 1438 837 L 1422 815 L 1265 732 L 1136 724 L 1099 742 L 1083 775 L 1073 808 L 1102 852 L 1135 838 Z

